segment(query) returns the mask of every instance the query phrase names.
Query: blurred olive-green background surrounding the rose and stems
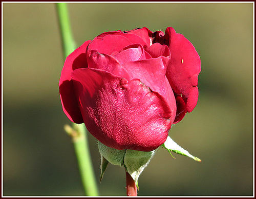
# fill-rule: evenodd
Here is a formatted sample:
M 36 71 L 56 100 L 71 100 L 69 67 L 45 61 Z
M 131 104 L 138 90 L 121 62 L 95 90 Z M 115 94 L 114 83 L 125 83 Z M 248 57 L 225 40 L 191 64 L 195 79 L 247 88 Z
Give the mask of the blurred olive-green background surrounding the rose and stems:
M 58 81 L 63 66 L 55 5 L 3 5 L 3 194 L 82 195 Z M 201 57 L 199 101 L 169 135 L 201 158 L 160 148 L 138 195 L 253 194 L 253 4 L 69 4 L 77 46 L 106 31 L 174 27 Z M 125 172 L 109 165 L 89 134 L 100 195 L 125 195 Z

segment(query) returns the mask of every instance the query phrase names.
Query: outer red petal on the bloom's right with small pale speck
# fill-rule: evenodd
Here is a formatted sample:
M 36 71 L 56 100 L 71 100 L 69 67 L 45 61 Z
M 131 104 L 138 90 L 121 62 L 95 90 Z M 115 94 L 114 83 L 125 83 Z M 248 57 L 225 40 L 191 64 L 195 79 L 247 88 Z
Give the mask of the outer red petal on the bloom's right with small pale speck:
M 198 101 L 198 74 L 201 71 L 200 57 L 195 47 L 182 34 L 178 34 L 171 27 L 165 31 L 168 38 L 171 59 L 166 71 L 174 92 L 182 94 L 187 112 L 191 112 Z

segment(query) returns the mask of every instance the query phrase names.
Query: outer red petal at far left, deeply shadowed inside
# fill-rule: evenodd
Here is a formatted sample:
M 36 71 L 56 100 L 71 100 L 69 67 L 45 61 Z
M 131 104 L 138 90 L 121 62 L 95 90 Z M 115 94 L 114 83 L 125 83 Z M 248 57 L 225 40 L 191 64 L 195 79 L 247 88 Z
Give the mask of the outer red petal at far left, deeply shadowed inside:
M 84 42 L 66 58 L 59 79 L 59 94 L 62 109 L 68 118 L 77 124 L 83 123 L 83 120 L 76 101 L 71 73 L 74 69 L 87 67 L 86 49 L 90 42 L 90 40 Z

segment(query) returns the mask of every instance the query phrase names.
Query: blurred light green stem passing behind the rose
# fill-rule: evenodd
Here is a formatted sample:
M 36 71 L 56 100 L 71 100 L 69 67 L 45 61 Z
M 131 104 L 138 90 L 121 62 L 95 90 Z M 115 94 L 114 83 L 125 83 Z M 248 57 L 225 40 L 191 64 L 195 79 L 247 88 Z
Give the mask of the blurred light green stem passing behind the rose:
M 56 10 L 58 14 L 63 56 L 64 58 L 66 58 L 71 52 L 75 50 L 75 43 L 69 22 L 67 4 L 56 3 Z M 78 125 L 73 123 L 73 128 L 71 128 L 69 125 L 66 125 L 65 130 L 70 135 L 72 135 L 84 191 L 88 196 L 97 196 L 98 189 L 87 141 L 86 127 L 84 126 L 84 124 Z

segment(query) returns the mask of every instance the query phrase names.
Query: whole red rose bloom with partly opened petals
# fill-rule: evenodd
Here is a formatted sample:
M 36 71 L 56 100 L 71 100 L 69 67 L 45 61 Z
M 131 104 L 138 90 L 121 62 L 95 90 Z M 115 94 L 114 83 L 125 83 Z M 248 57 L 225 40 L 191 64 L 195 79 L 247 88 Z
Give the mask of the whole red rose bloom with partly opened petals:
M 105 32 L 67 57 L 62 108 L 106 146 L 152 151 L 195 108 L 200 71 L 194 46 L 173 28 Z

